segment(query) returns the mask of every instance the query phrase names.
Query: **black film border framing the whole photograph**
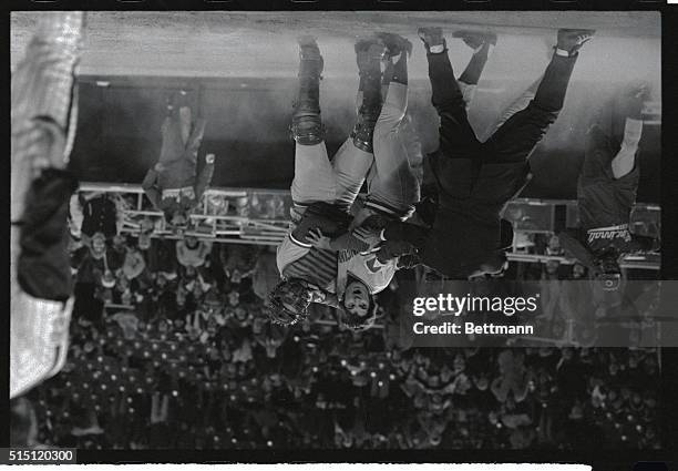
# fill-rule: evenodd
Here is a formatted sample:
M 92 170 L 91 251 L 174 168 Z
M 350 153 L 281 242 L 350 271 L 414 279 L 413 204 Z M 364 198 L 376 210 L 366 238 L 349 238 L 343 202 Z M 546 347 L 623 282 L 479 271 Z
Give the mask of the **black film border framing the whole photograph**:
M 152 11 L 152 10 L 192 10 L 208 11 L 266 11 L 266 10 L 542 10 L 542 11 L 660 11 L 662 28 L 662 104 L 678 103 L 678 4 L 667 6 L 666 1 L 643 1 L 643 0 L 401 0 L 401 1 L 379 1 L 379 0 L 315 0 L 310 2 L 301 1 L 278 1 L 278 0 L 229 0 L 229 1 L 208 1 L 208 0 L 97 0 L 95 4 L 86 0 L 55 0 L 55 1 L 33 1 L 33 0 L 6 0 L 2 2 L 2 29 L 6 32 L 6 71 L 2 74 L 4 93 L 2 94 L 6 123 L 9 124 L 10 112 L 10 70 L 9 70 L 9 44 L 10 44 L 10 12 L 11 11 L 49 11 L 49 10 L 75 10 L 84 9 L 90 11 L 104 10 L 130 10 L 130 11 Z M 496 7 L 496 8 L 495 8 Z M 672 106 L 662 106 L 662 122 L 669 123 L 662 129 L 662 183 L 661 183 L 661 206 L 662 206 L 662 278 L 678 279 L 678 136 L 674 137 L 671 129 L 676 129 L 678 122 L 677 111 Z M 3 127 L 3 139 L 6 141 L 6 155 L 10 155 L 9 125 Z M 9 180 L 9 160 L 2 163 L 4 175 Z M 10 201 L 10 186 L 7 187 L 7 199 Z M 6 221 L 9 219 L 8 205 Z M 6 229 L 8 231 L 8 229 Z M 9 231 L 8 231 L 9 232 Z M 9 239 L 9 237 L 7 237 Z M 4 256 L 9 259 L 8 252 Z M 8 266 L 9 264 L 6 264 Z M 9 313 L 9 296 L 6 304 Z M 677 310 L 678 306 L 664 306 L 667 310 Z M 9 391 L 9 316 L 0 316 L 0 330 L 6 335 L 0 339 L 0 346 L 4 354 L 0 354 L 2 371 L 0 375 L 2 390 Z M 392 463 L 425 463 L 425 462 L 561 462 L 561 463 L 585 463 L 593 465 L 594 470 L 630 470 L 638 461 L 666 462 L 669 469 L 678 465 L 676 447 L 678 443 L 678 348 L 666 348 L 662 350 L 662 424 L 661 434 L 664 438 L 662 450 L 594 450 L 594 451 L 499 451 L 499 450 L 390 450 L 390 451 L 367 451 L 367 450 L 294 450 L 294 451 L 271 451 L 271 450 L 238 450 L 238 451 L 215 451 L 215 450 L 144 450 L 144 451 L 79 451 L 80 463 L 280 463 L 280 462 L 392 462 Z M 9 411 L 9 395 L 3 395 L 0 402 L 0 411 Z M 0 416 L 6 416 L 0 412 Z M 9 428 L 0 428 L 0 447 L 9 444 Z

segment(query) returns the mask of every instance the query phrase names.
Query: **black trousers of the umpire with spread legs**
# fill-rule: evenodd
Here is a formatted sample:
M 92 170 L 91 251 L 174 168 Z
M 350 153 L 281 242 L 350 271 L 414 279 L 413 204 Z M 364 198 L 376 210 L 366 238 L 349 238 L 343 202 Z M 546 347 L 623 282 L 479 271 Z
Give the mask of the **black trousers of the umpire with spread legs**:
M 479 164 L 525 161 L 558 116 L 576 57 L 553 55 L 536 95 L 511 116 L 486 142 L 481 143 L 466 115 L 446 52 L 428 54 L 433 106 L 440 115 L 442 158 L 468 158 Z M 444 175 L 438 175 L 444 178 Z

